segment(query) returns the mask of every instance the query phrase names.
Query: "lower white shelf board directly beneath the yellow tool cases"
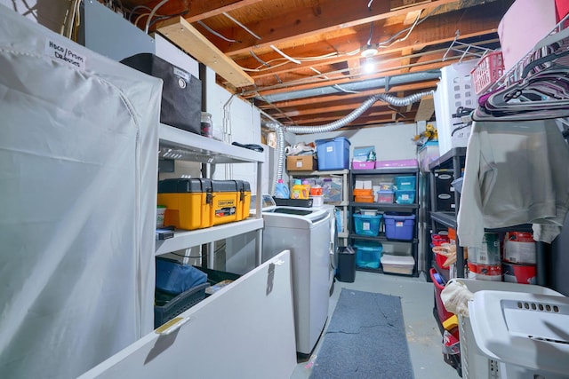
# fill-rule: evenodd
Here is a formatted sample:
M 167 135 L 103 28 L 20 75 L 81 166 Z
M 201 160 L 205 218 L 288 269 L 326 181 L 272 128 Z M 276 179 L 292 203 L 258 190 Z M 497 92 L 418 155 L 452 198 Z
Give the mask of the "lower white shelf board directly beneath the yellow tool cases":
M 223 240 L 238 234 L 248 233 L 263 228 L 262 218 L 247 218 L 235 223 L 222 224 L 193 231 L 175 231 L 174 237 L 156 241 L 156 256 L 172 251 L 188 249 L 212 241 Z

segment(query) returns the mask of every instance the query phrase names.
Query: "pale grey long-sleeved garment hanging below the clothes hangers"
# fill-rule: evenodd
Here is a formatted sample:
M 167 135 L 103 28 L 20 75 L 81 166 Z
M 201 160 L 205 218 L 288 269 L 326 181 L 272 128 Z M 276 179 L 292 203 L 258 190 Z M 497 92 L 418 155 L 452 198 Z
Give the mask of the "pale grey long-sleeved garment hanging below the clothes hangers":
M 480 247 L 485 228 L 534 225 L 551 242 L 569 207 L 569 149 L 557 122 L 474 122 L 458 214 L 461 246 Z

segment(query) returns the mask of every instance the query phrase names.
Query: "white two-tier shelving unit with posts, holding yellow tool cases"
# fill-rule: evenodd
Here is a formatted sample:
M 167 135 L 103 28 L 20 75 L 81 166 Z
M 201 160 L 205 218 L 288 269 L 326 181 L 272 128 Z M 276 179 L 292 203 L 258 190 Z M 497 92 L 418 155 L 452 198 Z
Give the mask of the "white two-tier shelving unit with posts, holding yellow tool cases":
M 221 163 L 256 163 L 257 164 L 257 193 L 261 193 L 262 163 L 265 162 L 263 153 L 255 152 L 239 146 L 228 145 L 213 138 L 206 138 L 186 130 L 180 130 L 169 125 L 160 124 L 158 129 L 159 151 L 161 158 L 201 162 L 204 164 Z M 164 241 L 156 241 L 156 256 L 180 249 L 223 240 L 242 233 L 256 231 L 255 263 L 260 265 L 262 246 L 263 219 L 260 212 L 260 196 L 257 196 L 256 213 L 243 221 L 230 224 L 216 225 L 195 231 L 177 230 L 174 237 Z M 214 257 L 212 249 L 208 249 L 207 263 L 213 268 Z

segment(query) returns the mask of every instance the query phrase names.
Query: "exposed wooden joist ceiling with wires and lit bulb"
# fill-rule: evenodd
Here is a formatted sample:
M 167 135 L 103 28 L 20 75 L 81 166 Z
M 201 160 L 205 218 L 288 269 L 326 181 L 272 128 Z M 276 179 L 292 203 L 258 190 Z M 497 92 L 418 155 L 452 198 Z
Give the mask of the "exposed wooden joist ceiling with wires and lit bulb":
M 231 71 L 215 69 L 218 83 L 252 101 L 268 119 L 321 125 L 373 94 L 405 97 L 436 89 L 440 67 L 500 47 L 498 24 L 513 2 L 170 0 L 156 10 L 150 31 L 205 64 L 217 54 L 220 59 L 209 65 L 225 61 Z M 123 1 L 142 29 L 148 9 L 159 3 Z M 174 36 L 172 28 L 184 26 L 199 43 Z M 367 45 L 377 50 L 369 58 L 362 56 Z M 372 71 L 365 71 L 366 64 Z M 433 117 L 432 97 L 405 107 L 377 101 L 345 128 Z

